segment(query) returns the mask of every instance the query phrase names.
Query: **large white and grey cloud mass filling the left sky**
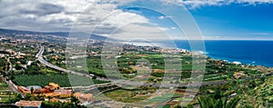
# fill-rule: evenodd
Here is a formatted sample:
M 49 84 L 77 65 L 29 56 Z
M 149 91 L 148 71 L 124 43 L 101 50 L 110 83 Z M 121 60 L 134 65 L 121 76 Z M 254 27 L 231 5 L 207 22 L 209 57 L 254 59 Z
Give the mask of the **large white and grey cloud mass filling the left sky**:
M 117 8 L 134 0 L 40 0 L 0 4 L 0 27 L 43 32 L 68 32 L 73 25 L 81 32 L 96 28 L 95 34 L 116 39 L 160 39 L 167 28 L 149 23 L 143 15 Z M 163 16 L 167 18 L 169 16 Z M 114 33 L 112 33 L 114 31 Z

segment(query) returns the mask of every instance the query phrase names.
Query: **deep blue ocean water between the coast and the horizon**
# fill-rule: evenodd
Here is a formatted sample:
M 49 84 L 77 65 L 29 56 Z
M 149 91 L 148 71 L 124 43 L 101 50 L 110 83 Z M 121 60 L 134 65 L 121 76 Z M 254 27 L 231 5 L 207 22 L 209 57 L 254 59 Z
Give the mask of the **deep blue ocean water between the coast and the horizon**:
M 214 59 L 273 67 L 273 41 L 204 41 L 206 53 Z M 191 48 L 187 41 L 175 41 L 178 48 Z

